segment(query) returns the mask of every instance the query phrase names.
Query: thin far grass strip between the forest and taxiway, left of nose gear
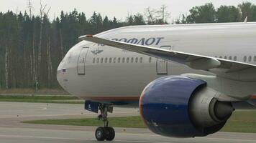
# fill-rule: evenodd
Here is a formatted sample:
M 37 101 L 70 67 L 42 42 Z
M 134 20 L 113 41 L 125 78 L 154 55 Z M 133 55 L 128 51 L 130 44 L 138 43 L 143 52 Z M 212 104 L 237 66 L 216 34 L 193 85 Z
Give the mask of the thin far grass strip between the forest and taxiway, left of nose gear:
M 37 103 L 64 103 L 83 104 L 83 100 L 68 96 L 0 96 L 0 102 L 37 102 Z

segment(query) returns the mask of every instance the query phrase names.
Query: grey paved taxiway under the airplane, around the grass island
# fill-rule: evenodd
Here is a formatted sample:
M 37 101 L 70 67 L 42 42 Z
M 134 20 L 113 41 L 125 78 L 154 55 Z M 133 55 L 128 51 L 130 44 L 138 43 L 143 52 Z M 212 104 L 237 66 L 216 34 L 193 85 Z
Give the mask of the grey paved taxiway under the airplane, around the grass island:
M 138 109 L 114 108 L 109 117 L 138 115 Z M 97 142 L 96 127 L 65 125 L 22 124 L 32 119 L 63 119 L 96 117 L 97 114 L 83 110 L 83 104 L 44 104 L 0 102 L 0 142 L 19 143 L 84 143 Z M 115 128 L 113 142 L 134 143 L 256 143 L 256 134 L 218 132 L 208 137 L 176 139 L 161 137 L 148 129 Z

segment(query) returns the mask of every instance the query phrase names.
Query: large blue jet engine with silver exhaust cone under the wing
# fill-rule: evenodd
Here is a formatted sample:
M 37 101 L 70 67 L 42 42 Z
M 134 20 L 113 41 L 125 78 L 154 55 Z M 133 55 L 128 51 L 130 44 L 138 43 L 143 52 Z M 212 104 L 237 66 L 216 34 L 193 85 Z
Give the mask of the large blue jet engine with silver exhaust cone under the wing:
M 216 100 L 206 82 L 162 77 L 145 87 L 140 114 L 152 132 L 167 137 L 202 137 L 218 132 L 232 114 L 232 104 Z

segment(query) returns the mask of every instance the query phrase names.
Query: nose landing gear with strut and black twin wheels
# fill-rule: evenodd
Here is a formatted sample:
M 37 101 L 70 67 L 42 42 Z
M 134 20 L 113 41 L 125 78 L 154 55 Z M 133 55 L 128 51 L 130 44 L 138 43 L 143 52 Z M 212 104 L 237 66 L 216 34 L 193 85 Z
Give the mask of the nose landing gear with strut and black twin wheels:
M 109 127 L 109 121 L 108 121 L 108 112 L 113 111 L 113 107 L 110 107 L 109 104 L 100 104 L 99 110 L 101 111 L 101 114 L 98 116 L 100 120 L 104 122 L 104 127 L 98 127 L 95 132 L 95 137 L 98 141 L 111 141 L 115 137 L 115 132 L 112 127 Z

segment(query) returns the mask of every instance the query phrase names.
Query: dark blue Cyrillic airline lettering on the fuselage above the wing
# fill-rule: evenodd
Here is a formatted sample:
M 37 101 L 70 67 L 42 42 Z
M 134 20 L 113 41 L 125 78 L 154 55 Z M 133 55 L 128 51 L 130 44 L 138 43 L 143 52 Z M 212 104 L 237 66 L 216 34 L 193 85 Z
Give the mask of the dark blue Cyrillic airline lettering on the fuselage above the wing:
M 130 44 L 139 44 L 139 45 L 146 45 L 146 46 L 150 46 L 150 45 L 158 45 L 160 44 L 160 41 L 164 39 L 164 37 L 151 37 L 151 38 L 132 38 L 132 39 L 127 39 L 127 38 L 121 38 L 121 39 L 111 39 L 113 41 L 122 41 L 122 42 L 126 42 L 126 43 L 130 43 Z M 104 45 L 101 45 L 104 46 Z

